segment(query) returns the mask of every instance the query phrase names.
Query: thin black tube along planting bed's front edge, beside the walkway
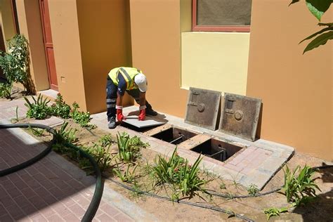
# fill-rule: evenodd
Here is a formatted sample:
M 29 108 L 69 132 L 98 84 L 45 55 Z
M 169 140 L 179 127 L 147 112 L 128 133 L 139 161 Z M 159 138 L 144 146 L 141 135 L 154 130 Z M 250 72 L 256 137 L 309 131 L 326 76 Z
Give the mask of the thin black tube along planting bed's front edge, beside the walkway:
M 163 197 L 163 196 L 155 195 L 154 193 L 146 192 L 146 191 L 143 191 L 143 190 L 139 190 L 139 191 L 138 190 L 134 190 L 130 186 L 125 185 L 124 183 L 119 183 L 118 181 L 115 181 L 112 178 L 107 178 L 107 180 L 112 181 L 113 183 L 116 183 L 117 185 L 120 185 L 120 186 L 122 186 L 123 188 L 125 188 L 127 190 L 131 190 L 133 192 L 138 192 L 139 194 L 143 194 L 143 195 L 147 195 L 147 196 L 150 196 L 150 197 L 156 197 L 156 198 L 159 198 L 159 199 L 162 199 L 162 200 L 169 200 L 171 202 L 174 202 L 174 200 L 171 200 L 170 197 Z M 223 212 L 223 213 L 226 213 L 226 214 L 229 214 L 229 215 L 236 216 L 238 218 L 242 218 L 245 221 L 251 221 L 251 222 L 253 222 L 253 220 L 250 219 L 250 218 L 247 218 L 247 217 L 242 216 L 240 214 L 235 214 L 233 211 L 228 211 L 228 210 L 222 209 L 220 207 L 207 206 L 207 205 L 204 205 L 204 204 L 197 204 L 197 203 L 192 203 L 192 202 L 186 202 L 186 201 L 183 201 L 183 200 L 178 200 L 177 202 L 180 203 L 180 204 L 187 204 L 187 205 L 191 205 L 191 206 L 195 206 L 195 207 L 200 207 L 200 208 L 204 208 L 204 209 L 211 209 L 211 210 L 214 210 L 214 211 Z

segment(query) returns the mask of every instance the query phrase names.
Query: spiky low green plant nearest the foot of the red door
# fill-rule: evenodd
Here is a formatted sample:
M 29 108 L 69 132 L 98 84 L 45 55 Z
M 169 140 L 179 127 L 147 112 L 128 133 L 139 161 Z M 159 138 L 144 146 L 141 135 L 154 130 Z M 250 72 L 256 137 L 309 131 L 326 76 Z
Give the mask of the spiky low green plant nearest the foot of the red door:
M 34 103 L 30 103 L 30 101 L 26 98 L 25 106 L 28 107 L 27 110 L 27 117 L 35 118 L 35 119 L 46 119 L 46 117 L 51 115 L 51 109 L 48 107 L 48 103 L 50 103 L 50 100 L 47 98 L 43 98 L 41 94 L 37 97 L 37 100 L 32 96 L 32 100 L 34 100 Z

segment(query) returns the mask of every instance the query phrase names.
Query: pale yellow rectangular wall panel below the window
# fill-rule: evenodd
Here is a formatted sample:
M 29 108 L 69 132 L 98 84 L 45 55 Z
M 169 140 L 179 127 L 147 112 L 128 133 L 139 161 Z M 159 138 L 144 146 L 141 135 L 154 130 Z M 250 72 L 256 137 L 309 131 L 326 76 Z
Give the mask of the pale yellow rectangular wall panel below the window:
M 182 87 L 245 95 L 249 33 L 183 32 Z

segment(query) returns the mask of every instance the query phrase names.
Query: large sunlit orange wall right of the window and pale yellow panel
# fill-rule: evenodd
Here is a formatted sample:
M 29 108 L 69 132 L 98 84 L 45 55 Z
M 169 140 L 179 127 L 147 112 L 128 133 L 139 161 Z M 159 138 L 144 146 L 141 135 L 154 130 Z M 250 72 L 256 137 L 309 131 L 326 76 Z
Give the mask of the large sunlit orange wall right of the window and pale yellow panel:
M 247 96 L 263 100 L 261 138 L 332 160 L 332 41 L 302 55 L 318 20 L 289 2 L 252 1 Z

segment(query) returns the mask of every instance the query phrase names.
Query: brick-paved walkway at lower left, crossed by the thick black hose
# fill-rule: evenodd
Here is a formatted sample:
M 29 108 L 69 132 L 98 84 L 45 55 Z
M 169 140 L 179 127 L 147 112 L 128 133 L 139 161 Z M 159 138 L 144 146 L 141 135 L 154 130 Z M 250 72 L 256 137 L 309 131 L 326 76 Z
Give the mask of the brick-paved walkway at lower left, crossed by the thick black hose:
M 25 115 L 24 100 L 0 102 L 0 124 Z M 53 125 L 57 119 L 46 120 Z M 62 122 L 58 119 L 58 122 Z M 0 170 L 37 155 L 46 145 L 22 129 L 0 129 Z M 0 177 L 0 221 L 80 221 L 96 179 L 51 152 L 41 161 Z M 114 190 L 105 187 L 93 221 L 157 221 Z

